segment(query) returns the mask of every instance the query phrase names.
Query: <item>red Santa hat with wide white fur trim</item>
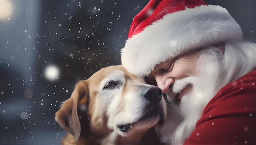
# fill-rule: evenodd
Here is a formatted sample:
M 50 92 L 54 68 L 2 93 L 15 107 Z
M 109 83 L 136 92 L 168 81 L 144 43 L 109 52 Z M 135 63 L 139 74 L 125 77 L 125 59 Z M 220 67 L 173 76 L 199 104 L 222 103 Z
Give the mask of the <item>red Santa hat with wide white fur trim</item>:
M 221 6 L 202 0 L 150 0 L 133 19 L 121 62 L 143 78 L 183 52 L 242 38 L 240 26 Z

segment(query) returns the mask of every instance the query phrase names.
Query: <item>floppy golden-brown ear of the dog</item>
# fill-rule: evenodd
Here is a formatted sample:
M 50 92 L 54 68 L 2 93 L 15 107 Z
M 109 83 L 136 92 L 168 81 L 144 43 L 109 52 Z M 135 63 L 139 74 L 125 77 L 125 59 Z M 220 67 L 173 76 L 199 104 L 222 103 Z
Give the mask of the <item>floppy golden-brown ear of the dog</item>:
M 55 120 L 67 132 L 70 132 L 77 141 L 81 133 L 81 124 L 79 121 L 78 110 L 80 111 L 81 104 L 83 111 L 88 105 L 88 85 L 86 80 L 81 80 L 76 84 L 76 87 L 69 99 L 61 104 L 60 110 L 56 112 Z M 80 114 L 80 113 L 79 113 Z

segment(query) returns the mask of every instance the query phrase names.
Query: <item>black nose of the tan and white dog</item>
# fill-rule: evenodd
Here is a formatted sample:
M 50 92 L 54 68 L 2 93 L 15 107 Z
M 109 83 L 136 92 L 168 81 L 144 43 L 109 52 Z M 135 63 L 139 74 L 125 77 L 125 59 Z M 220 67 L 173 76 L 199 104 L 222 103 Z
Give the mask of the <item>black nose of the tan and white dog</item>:
M 145 87 L 141 91 L 141 96 L 147 98 L 150 102 L 158 102 L 162 99 L 162 90 L 159 87 Z

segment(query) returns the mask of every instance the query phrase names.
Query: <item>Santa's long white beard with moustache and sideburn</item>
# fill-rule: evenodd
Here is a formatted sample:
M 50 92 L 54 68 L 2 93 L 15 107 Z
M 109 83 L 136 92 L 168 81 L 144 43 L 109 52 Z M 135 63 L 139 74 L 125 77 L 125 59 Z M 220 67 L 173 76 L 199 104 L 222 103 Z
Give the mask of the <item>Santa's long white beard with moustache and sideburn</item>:
M 169 115 L 159 131 L 164 143 L 182 145 L 193 132 L 205 106 L 223 87 L 218 84 L 222 72 L 221 58 L 222 54 L 217 48 L 203 50 L 197 61 L 196 76 L 175 80 L 172 92 L 167 94 L 171 109 L 168 109 Z M 191 92 L 183 95 L 180 103 L 175 103 L 175 94 L 180 93 L 188 84 L 192 85 Z

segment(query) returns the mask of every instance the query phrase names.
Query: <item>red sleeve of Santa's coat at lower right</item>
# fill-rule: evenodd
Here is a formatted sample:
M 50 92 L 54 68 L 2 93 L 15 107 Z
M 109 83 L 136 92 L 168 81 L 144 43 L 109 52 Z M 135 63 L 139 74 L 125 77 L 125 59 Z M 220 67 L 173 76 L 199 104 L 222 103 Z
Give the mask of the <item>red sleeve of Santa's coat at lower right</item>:
M 256 70 L 220 89 L 184 143 L 219 144 L 256 145 Z

